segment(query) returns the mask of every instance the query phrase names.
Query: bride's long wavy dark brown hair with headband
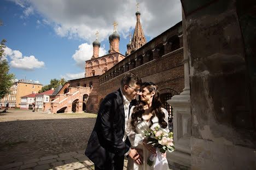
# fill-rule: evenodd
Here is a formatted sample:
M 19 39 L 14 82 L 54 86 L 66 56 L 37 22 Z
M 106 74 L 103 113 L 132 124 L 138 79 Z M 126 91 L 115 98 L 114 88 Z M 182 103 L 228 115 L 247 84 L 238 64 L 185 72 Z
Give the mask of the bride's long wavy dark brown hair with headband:
M 161 127 L 166 128 L 167 122 L 165 122 L 165 120 L 164 120 L 165 113 L 162 112 L 162 110 L 161 110 L 162 103 L 160 101 L 160 93 L 159 93 L 158 86 L 156 86 L 152 82 L 144 82 L 141 85 L 141 89 L 143 89 L 144 87 L 147 87 L 147 89 L 149 90 L 150 93 L 155 90 L 155 95 L 153 96 L 152 106 L 151 106 L 151 113 L 153 114 L 153 116 L 149 120 L 151 122 L 150 126 L 153 125 L 152 119 L 156 116 L 159 119 L 159 124 L 161 125 Z M 131 125 L 132 125 L 133 129 L 135 129 L 135 125 L 138 123 L 139 118 L 143 121 L 142 114 L 145 112 L 143 110 L 144 105 L 146 105 L 146 103 L 141 101 L 141 96 L 139 96 L 138 105 L 135 106 L 135 108 L 133 109 L 132 115 L 131 115 L 131 119 L 132 119 Z

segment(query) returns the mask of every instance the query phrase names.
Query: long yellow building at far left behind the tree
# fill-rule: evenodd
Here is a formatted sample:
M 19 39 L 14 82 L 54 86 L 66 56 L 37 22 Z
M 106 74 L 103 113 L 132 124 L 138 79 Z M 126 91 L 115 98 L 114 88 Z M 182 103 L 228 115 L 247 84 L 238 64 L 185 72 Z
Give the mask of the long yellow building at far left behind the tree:
M 42 87 L 42 84 L 31 80 L 14 81 L 13 86 L 10 87 L 11 93 L 0 99 L 0 106 L 5 107 L 8 104 L 8 107 L 20 107 L 22 96 L 38 93 Z

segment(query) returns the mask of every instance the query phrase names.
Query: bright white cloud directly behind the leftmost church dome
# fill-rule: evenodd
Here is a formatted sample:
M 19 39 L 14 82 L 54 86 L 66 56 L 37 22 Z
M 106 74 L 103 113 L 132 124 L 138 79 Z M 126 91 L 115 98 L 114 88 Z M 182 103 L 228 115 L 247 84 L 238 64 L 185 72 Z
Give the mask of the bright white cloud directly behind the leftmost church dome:
M 79 68 L 84 69 L 85 61 L 91 59 L 92 53 L 93 53 L 93 47 L 91 44 L 81 44 L 78 46 L 79 50 L 75 50 L 75 53 L 73 54 L 72 58 L 74 58 L 76 65 L 79 66 Z M 107 54 L 107 51 L 100 47 L 99 56 L 104 56 L 104 54 Z

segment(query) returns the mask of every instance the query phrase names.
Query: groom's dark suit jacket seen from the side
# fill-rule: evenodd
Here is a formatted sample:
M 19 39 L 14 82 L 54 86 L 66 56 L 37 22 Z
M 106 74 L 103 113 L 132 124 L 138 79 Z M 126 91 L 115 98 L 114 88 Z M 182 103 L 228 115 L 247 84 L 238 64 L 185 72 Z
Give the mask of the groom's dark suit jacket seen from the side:
M 131 102 L 131 105 L 134 103 Z M 101 169 L 113 169 L 113 166 L 123 169 L 124 154 L 130 148 L 128 137 L 123 142 L 124 132 L 124 104 L 119 89 L 108 94 L 101 102 L 85 155 Z

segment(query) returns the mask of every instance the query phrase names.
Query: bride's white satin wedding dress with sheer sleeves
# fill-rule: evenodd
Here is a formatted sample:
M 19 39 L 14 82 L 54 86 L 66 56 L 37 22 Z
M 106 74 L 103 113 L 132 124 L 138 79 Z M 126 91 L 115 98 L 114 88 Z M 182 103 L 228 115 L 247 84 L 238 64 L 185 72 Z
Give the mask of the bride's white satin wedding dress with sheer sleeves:
M 130 113 L 132 113 L 134 107 L 135 106 L 132 106 Z M 167 127 L 168 127 L 168 112 L 164 108 L 162 108 L 162 111 L 165 113 L 165 122 L 167 123 Z M 156 126 L 160 126 L 160 124 L 158 123 L 158 117 L 155 116 L 152 119 L 152 122 L 153 122 L 153 125 L 150 127 L 150 129 L 153 129 Z M 144 139 L 144 131 L 149 130 L 149 126 L 151 124 L 152 123 L 150 122 L 150 120 L 148 122 L 146 120 L 143 120 L 143 121 L 138 120 L 138 123 L 135 125 L 136 129 L 132 129 L 131 114 L 130 114 L 128 125 L 126 128 L 126 135 L 129 137 L 129 140 L 131 142 L 131 148 L 138 148 L 143 150 L 143 153 L 139 153 L 143 155 L 143 165 L 138 165 L 134 163 L 133 160 L 129 157 L 128 163 L 127 163 L 127 170 L 151 170 L 151 169 L 167 170 L 169 169 L 167 159 L 160 157 L 162 156 L 160 155 L 161 154 L 160 151 L 158 151 L 157 156 L 162 159 L 161 165 L 159 166 L 159 162 L 157 163 L 158 165 L 156 165 L 156 160 L 153 162 L 153 166 L 149 166 L 147 164 L 149 156 L 152 155 L 152 153 L 150 153 L 149 150 L 144 147 L 143 139 Z M 166 128 L 166 130 L 169 132 L 168 128 Z

